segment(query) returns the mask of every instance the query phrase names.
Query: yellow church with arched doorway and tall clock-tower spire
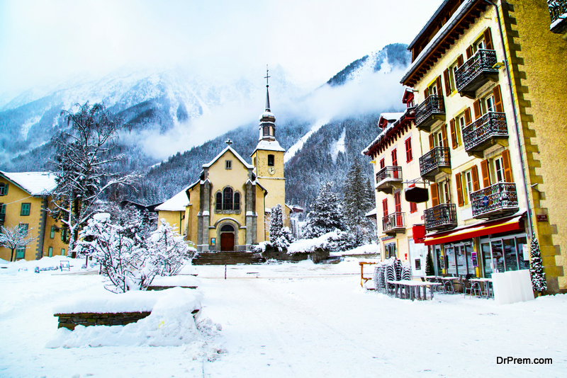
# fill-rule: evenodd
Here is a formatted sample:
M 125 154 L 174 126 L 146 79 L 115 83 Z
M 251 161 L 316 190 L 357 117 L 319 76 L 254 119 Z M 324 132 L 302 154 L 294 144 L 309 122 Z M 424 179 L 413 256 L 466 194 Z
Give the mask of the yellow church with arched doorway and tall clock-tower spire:
M 267 77 L 266 77 L 267 79 Z M 276 117 L 270 111 L 266 83 L 266 109 L 260 116 L 259 142 L 250 156 L 252 164 L 228 146 L 203 164 L 198 181 L 156 207 L 159 218 L 176 224 L 197 251 L 247 251 L 252 244 L 269 240 L 271 207 L 285 205 L 286 179 L 283 149 L 276 139 Z

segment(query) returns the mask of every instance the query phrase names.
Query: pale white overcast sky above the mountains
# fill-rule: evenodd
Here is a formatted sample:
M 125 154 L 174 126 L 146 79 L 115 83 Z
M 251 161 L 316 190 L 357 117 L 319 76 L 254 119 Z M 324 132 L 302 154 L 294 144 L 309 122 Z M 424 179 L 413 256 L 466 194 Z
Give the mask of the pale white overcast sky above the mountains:
M 79 72 L 281 65 L 318 86 L 354 59 L 409 43 L 442 0 L 0 0 L 0 93 Z

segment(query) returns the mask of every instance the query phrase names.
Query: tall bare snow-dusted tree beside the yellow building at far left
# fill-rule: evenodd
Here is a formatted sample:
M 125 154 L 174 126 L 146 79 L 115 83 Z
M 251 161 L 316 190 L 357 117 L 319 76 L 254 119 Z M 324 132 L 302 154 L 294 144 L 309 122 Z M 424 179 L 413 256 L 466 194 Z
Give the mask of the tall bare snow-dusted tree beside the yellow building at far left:
M 64 110 L 68 129 L 53 142 L 57 187 L 52 195 L 52 216 L 69 229 L 69 251 L 77 243 L 79 230 L 98 211 L 97 202 L 107 188 L 130 184 L 135 175 L 118 177 L 108 171 L 109 164 L 122 159 L 112 150 L 121 127 L 104 105 L 79 105 L 77 113 Z

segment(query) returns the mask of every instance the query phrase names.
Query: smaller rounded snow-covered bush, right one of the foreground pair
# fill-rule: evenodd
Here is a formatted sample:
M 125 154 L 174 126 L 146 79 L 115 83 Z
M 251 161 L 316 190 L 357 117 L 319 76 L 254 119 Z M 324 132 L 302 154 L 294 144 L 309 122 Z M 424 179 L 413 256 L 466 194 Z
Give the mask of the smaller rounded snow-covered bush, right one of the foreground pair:
M 147 241 L 147 272 L 153 275 L 176 275 L 193 258 L 196 250 L 187 245 L 176 227 L 170 226 L 165 219 L 159 222 L 158 229 L 152 232 Z

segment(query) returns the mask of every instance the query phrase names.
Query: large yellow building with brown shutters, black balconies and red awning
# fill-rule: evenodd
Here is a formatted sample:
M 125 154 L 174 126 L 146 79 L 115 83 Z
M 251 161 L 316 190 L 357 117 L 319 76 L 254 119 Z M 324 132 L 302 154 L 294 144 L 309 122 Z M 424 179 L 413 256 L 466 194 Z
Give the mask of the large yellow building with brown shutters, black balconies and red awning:
M 438 273 L 527 269 L 534 234 L 548 292 L 567 290 L 567 188 L 558 169 L 567 163 L 567 46 L 549 31 L 546 5 L 444 1 L 408 47 L 401 82 L 414 88 L 415 123 L 428 134 L 425 244 Z

